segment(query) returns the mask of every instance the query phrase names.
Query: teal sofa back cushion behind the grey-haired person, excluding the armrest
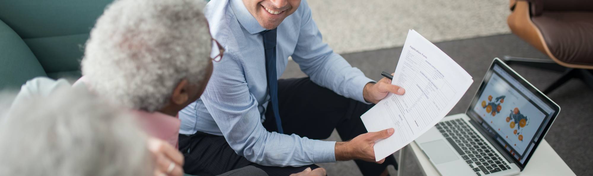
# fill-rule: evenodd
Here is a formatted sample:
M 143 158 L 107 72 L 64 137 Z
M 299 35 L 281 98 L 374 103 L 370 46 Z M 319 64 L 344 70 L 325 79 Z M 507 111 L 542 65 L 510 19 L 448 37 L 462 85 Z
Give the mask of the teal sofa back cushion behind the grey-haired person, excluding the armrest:
M 5 0 L 0 19 L 23 38 L 48 75 L 76 73 L 88 34 L 112 1 Z

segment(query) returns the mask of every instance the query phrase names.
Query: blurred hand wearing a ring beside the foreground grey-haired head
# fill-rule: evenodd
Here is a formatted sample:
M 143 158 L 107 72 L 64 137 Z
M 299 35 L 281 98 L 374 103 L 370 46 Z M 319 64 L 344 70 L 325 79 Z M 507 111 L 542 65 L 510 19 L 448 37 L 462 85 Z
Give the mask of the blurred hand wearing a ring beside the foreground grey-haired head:
M 149 138 L 148 150 L 155 159 L 155 176 L 183 175 L 183 154 L 174 146 L 161 139 Z

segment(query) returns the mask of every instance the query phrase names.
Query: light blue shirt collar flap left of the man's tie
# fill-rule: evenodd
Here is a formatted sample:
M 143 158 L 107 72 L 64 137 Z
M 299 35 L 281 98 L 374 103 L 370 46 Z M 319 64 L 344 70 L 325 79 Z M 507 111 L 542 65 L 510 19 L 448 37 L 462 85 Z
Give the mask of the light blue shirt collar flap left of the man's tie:
M 245 28 L 250 34 L 257 34 L 259 32 L 265 31 L 266 28 L 263 28 L 262 25 L 257 22 L 256 17 L 253 17 L 251 13 L 243 4 L 241 0 L 231 0 L 231 8 L 232 11 L 235 12 L 235 17 L 239 21 L 239 24 Z

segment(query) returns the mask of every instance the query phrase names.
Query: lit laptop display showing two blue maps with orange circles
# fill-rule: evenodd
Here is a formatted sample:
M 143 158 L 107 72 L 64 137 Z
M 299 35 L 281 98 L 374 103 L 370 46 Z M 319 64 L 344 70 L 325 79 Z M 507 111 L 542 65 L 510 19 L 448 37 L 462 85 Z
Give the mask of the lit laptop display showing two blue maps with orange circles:
M 546 118 L 545 113 L 497 73 L 490 77 L 473 110 L 519 155 L 524 154 Z

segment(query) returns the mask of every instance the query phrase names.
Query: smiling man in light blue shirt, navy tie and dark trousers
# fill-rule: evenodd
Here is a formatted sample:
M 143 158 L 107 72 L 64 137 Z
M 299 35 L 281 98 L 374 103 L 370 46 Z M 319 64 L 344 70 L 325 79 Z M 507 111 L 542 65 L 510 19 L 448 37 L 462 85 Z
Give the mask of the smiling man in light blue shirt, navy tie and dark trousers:
M 305 0 L 215 0 L 206 5 L 212 36 L 226 50 L 199 100 L 179 113 L 184 170 L 222 174 L 254 165 L 269 175 L 355 159 L 364 175 L 386 175 L 372 146 L 393 129 L 367 132 L 360 116 L 389 92 L 331 50 Z M 278 80 L 288 57 L 308 77 Z M 336 128 L 343 141 L 320 141 Z

